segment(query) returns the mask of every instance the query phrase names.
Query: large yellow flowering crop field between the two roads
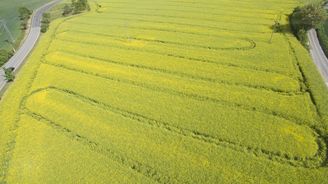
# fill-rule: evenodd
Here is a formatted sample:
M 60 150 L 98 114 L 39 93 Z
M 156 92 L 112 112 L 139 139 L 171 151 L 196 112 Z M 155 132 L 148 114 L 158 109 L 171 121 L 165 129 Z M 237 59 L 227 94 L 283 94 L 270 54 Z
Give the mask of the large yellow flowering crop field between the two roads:
M 99 0 L 53 21 L 1 99 L 0 183 L 328 183 L 300 4 Z

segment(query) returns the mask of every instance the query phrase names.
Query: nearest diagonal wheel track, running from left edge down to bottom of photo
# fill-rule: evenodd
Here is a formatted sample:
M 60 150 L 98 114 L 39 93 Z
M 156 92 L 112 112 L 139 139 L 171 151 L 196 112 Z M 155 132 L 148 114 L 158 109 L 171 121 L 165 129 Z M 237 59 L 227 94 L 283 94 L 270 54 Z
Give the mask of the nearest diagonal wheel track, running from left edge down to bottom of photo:
M 181 183 L 177 181 L 176 179 L 172 179 L 172 177 L 169 177 L 167 175 L 163 175 L 162 173 L 159 173 L 154 168 L 142 164 L 139 161 L 133 160 L 129 157 L 124 156 L 122 153 L 119 153 L 118 151 L 115 151 L 111 148 L 105 147 L 100 145 L 99 143 L 90 140 L 90 138 L 84 137 L 68 128 L 62 127 L 60 124 L 53 122 L 45 117 L 43 117 L 40 114 L 33 113 L 28 111 L 28 109 L 25 109 L 27 112 L 25 114 L 29 115 L 30 117 L 36 119 L 39 122 L 43 122 L 47 124 L 48 126 L 52 127 L 56 131 L 60 132 L 61 134 L 65 135 L 66 137 L 70 138 L 72 141 L 76 141 L 80 144 L 83 144 L 92 151 L 95 151 L 97 153 L 100 153 L 113 161 L 133 170 L 134 172 L 138 172 L 158 183 Z

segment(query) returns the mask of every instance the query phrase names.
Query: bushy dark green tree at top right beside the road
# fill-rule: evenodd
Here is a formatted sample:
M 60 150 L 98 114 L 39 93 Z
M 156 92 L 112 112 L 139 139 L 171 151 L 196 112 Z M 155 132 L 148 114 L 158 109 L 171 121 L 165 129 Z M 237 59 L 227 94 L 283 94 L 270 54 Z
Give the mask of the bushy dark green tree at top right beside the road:
M 327 12 L 321 4 L 297 7 L 290 16 L 292 31 L 302 45 L 308 47 L 307 31 L 322 24 L 327 17 Z

